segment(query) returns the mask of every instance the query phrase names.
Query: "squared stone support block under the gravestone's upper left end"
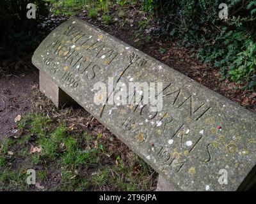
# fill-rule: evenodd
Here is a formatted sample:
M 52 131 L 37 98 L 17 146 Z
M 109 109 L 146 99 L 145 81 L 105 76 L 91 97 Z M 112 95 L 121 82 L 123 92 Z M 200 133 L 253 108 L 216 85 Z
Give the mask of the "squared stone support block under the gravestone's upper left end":
M 41 70 L 39 74 L 39 84 L 40 91 L 44 93 L 47 98 L 51 99 L 57 108 L 76 105 L 76 101 L 62 91 L 58 85 L 52 82 L 51 77 Z

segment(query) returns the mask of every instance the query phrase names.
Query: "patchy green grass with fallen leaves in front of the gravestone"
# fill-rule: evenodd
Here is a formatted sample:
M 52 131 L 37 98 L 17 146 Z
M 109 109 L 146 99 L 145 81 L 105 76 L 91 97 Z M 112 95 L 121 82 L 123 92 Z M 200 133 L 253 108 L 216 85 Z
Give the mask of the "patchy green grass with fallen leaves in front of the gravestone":
M 42 113 L 24 115 L 18 137 L 4 138 L 0 149 L 0 190 L 149 191 L 156 175 L 138 156 L 122 158 L 111 149 L 116 138 L 77 133 L 63 119 Z M 31 147 L 40 148 L 31 154 Z M 13 155 L 8 154 L 9 151 Z M 38 188 L 26 184 L 26 170 L 36 171 Z

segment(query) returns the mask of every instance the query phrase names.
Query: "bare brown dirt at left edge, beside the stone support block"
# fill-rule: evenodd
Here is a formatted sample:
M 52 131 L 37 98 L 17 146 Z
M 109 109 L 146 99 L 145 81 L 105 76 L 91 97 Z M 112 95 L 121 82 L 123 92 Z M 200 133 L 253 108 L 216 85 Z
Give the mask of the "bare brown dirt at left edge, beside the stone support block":
M 17 115 L 29 112 L 31 94 L 38 87 L 38 80 L 38 70 L 28 67 L 10 70 L 0 78 L 0 140 L 13 134 Z

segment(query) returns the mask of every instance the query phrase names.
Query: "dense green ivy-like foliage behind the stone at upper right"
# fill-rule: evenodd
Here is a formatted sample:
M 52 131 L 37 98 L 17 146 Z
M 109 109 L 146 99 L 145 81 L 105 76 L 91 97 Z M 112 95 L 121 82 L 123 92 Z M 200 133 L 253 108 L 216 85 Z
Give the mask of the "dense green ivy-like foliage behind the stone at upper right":
M 218 17 L 221 3 L 228 5 L 228 19 Z M 143 4 L 145 10 L 154 11 L 156 34 L 195 49 L 200 61 L 221 69 L 222 79 L 255 87 L 255 0 L 143 0 Z

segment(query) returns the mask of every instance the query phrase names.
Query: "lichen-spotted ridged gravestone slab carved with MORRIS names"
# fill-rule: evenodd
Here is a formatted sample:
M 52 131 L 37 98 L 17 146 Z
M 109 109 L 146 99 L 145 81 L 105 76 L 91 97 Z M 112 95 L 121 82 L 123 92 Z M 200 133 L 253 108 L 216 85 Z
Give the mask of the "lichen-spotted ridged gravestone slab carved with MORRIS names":
M 235 191 L 255 166 L 255 114 L 84 21 L 52 31 L 33 64 L 184 191 Z M 95 105 L 93 85 L 108 77 L 163 82 L 163 110 Z

